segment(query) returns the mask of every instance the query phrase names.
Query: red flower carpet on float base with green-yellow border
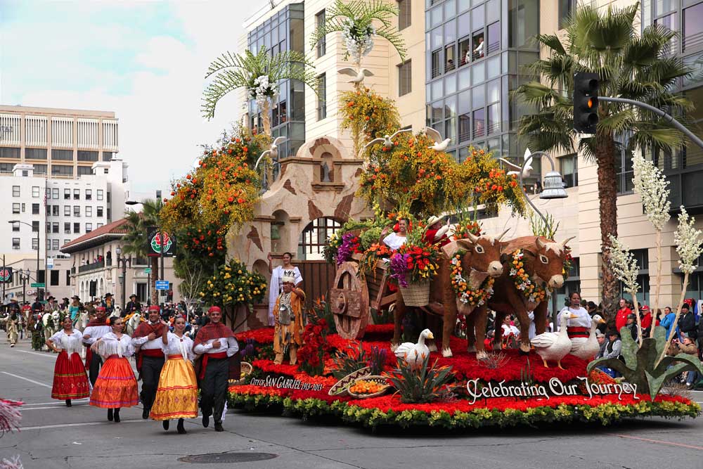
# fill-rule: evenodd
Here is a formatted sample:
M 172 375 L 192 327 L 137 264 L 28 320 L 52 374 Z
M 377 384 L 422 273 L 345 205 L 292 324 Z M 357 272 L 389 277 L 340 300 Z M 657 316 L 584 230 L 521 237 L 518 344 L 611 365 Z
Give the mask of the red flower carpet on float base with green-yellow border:
M 359 341 L 370 354 L 372 347 L 388 349 L 385 371 L 396 367 L 396 357 L 390 352 L 393 325 L 368 326 L 365 337 Z M 257 346 L 273 341 L 273 328 L 249 330 L 237 335 L 238 340 L 253 338 Z M 327 336 L 327 347 L 347 350 L 354 342 L 338 335 Z M 247 379 L 250 384 L 229 388 L 230 405 L 244 409 L 286 411 L 293 415 L 333 416 L 347 423 L 375 427 L 377 425 L 439 426 L 444 428 L 478 428 L 482 426 L 536 425 L 553 421 L 584 421 L 602 425 L 621 418 L 637 416 L 696 417 L 700 407 L 695 402 L 678 396 L 660 394 L 654 401 L 648 395 L 631 392 L 594 394 L 589 396 L 583 380 L 586 361 L 568 355 L 562 360 L 561 370 L 550 364 L 544 368 L 536 354 L 521 355 L 517 350 L 503 350 L 505 359 L 498 368 L 486 368 L 476 360 L 475 354 L 465 351 L 465 340 L 451 338 L 454 356 L 444 358 L 438 352 L 430 354 L 430 364 L 451 366 L 455 383 L 451 392 L 429 404 L 409 404 L 401 401 L 399 393 L 385 394 L 369 399 L 330 396 L 328 390 L 337 379 L 326 375 L 333 361 L 325 357 L 325 375 L 311 376 L 297 365 L 276 365 L 270 359 L 252 359 L 254 368 Z M 331 373 L 330 373 L 331 374 Z M 561 383 L 575 385 L 575 395 L 549 395 L 533 397 L 477 397 L 472 398 L 466 389 L 467 380 L 479 383 L 512 383 L 520 385 L 529 377 L 531 385 L 545 387 L 553 378 Z M 590 383 L 612 384 L 614 380 L 605 373 L 594 371 L 588 375 Z

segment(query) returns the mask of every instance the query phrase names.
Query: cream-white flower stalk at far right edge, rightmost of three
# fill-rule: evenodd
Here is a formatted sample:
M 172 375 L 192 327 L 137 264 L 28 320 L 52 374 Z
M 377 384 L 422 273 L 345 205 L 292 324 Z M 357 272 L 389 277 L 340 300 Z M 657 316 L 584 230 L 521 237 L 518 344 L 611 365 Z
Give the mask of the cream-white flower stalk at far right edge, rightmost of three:
M 678 327 L 678 317 L 681 316 L 681 307 L 683 306 L 683 300 L 686 295 L 686 288 L 688 288 L 688 278 L 695 269 L 698 268 L 695 263 L 698 257 L 703 253 L 703 248 L 701 246 L 701 231 L 695 228 L 696 219 L 691 217 L 688 218 L 688 212 L 681 205 L 681 213 L 678 214 L 678 228 L 676 232 L 673 233 L 673 242 L 676 244 L 676 252 L 678 253 L 678 268 L 683 272 L 683 287 L 681 287 L 681 297 L 678 300 L 678 306 L 676 307 L 676 316 L 673 318 L 673 324 L 671 324 L 671 330 L 676 330 Z M 666 339 L 666 345 L 662 349 L 662 354 L 657 360 L 657 365 L 666 356 L 666 350 L 669 349 L 671 345 L 671 339 L 673 334 L 669 334 L 669 338 Z

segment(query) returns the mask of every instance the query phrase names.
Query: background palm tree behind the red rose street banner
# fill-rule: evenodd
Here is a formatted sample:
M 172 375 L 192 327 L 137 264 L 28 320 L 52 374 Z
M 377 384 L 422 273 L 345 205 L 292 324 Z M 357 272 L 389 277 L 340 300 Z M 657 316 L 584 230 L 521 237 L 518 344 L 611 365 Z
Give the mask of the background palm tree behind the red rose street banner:
M 124 228 L 127 233 L 122 238 L 122 249 L 125 254 L 134 254 L 136 257 L 147 257 L 150 252 L 148 248 L 147 235 L 152 226 L 160 226 L 159 212 L 163 202 L 161 199 L 147 199 L 141 203 L 141 212 L 127 212 L 125 218 L 127 223 Z M 151 304 L 159 304 L 159 293 L 156 290 L 156 278 L 159 271 L 159 258 L 150 257 L 151 262 Z M 124 307 L 124 305 L 122 305 Z

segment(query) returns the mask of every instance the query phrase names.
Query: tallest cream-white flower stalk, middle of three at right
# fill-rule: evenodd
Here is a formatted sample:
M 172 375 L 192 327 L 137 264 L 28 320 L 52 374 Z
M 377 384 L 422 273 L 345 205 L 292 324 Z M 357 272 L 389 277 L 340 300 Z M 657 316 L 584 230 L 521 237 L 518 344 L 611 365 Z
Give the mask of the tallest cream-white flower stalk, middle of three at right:
M 635 173 L 635 192 L 640 194 L 642 204 L 645 207 L 647 219 L 654 226 L 656 234 L 655 243 L 657 246 L 657 281 L 654 283 L 654 302 L 652 311 L 654 317 L 659 311 L 659 290 L 662 285 L 662 229 L 671 216 L 669 210 L 669 181 L 662 173 L 662 170 L 654 166 L 652 162 L 645 160 L 641 154 L 633 152 L 633 170 Z M 639 317 L 639 316 L 638 316 Z M 650 337 L 654 337 L 654 328 L 650 330 Z

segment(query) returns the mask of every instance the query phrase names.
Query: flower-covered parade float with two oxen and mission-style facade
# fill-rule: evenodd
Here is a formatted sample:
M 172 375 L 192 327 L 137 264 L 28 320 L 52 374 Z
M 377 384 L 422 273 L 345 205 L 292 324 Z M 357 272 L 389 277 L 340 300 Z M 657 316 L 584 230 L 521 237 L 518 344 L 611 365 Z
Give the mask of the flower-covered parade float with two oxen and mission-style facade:
M 276 238 L 294 245 L 302 220 L 333 214 L 345 221 L 325 245 L 325 259 L 335 269 L 333 285 L 306 311 L 303 330 L 295 331 L 302 338 L 297 364 L 290 364 L 288 356 L 283 364 L 274 364 L 277 328 L 239 332 L 243 361 L 240 374 L 231 376 L 230 407 L 370 428 L 607 425 L 633 417 L 699 416 L 697 403 L 662 392 L 673 375 L 703 373 L 703 366 L 697 359 L 666 355 L 669 342 L 661 328 L 653 328 L 652 336 L 640 342 L 623 340 L 623 361 L 618 363 L 569 354 L 566 315 L 560 333 L 545 332 L 547 300 L 569 271 L 568 240 L 559 239 L 546 219 L 534 236 L 510 239 L 505 233 L 484 233 L 476 215 L 479 207 L 486 212 L 507 207 L 516 217 L 531 217 L 518 179 L 522 172 L 508 171 L 501 160 L 478 148 L 456 162 L 445 153 L 450 139 L 431 128 L 399 129 L 392 101 L 363 85 L 365 77 L 373 76 L 361 62 L 374 39 L 384 37 L 403 55 L 401 38 L 389 19 L 396 13 L 382 2 L 337 1 L 328 21 L 311 37 L 315 44 L 325 34 L 341 32 L 352 58 L 353 68 L 338 71 L 354 84 L 353 91 L 340 94 L 339 108 L 342 125 L 352 134 L 353 153 L 340 141 L 321 137 L 304 143 L 293 158 L 272 161 L 269 157 L 278 155 L 275 147 L 281 142 L 270 143 L 266 135 L 269 140 L 259 149 L 271 147 L 268 157 L 262 153 L 262 164 L 278 165 L 280 176 L 259 192 L 250 182 L 264 177 L 248 173 L 252 160 L 247 161 L 256 154 L 247 153 L 248 142 L 233 141 L 206 150 L 200 161 L 200 171 L 212 168 L 219 186 L 200 186 L 212 183 L 198 174 L 174 188 L 169 210 L 175 223 L 188 225 L 191 217 L 217 214 L 207 219 L 217 233 L 220 227 L 236 227 L 228 233 L 228 255 L 243 264 L 230 267 L 242 272 L 238 278 L 250 293 L 231 295 L 227 285 L 233 283 L 223 283 L 231 271 L 223 267 L 202 292 L 213 303 L 260 300 L 262 277 L 250 276 L 245 267 L 263 273 L 262 257 L 280 251 L 273 243 L 274 225 L 287 226 L 290 232 L 277 228 Z M 252 70 L 227 86 L 216 80 L 214 91 L 205 94 L 208 115 L 221 96 L 242 86 L 262 101 L 264 111 L 269 107 L 275 89 L 269 86 L 257 94 L 263 89 L 262 74 L 254 70 L 265 54 L 256 56 L 258 60 L 247 57 L 249 65 L 227 56 L 211 67 L 209 73 L 226 67 Z M 228 162 L 232 153 L 236 161 Z M 546 176 L 561 187 L 554 169 Z M 188 205 L 201 197 L 202 210 Z M 292 216 L 300 213 L 304 199 L 307 212 Z M 683 214 L 677 243 L 688 278 L 701 253 L 700 233 L 692 229 L 685 210 Z M 267 230 L 271 239 L 264 236 Z M 393 245 L 389 236 L 394 235 L 405 242 Z M 196 240 L 198 236 L 194 244 Z M 614 263 L 626 259 L 613 257 Z M 620 272 L 627 283 L 628 270 Z M 225 290 L 220 291 L 220 283 Z M 519 344 L 504 347 L 501 334 L 484 338 L 489 309 L 496 311 L 498 325 L 505 314 L 517 316 Z M 538 334 L 532 343 L 529 311 L 534 311 Z M 290 311 L 284 316 L 279 321 L 290 321 Z M 611 378 L 600 367 L 615 369 L 624 378 Z

